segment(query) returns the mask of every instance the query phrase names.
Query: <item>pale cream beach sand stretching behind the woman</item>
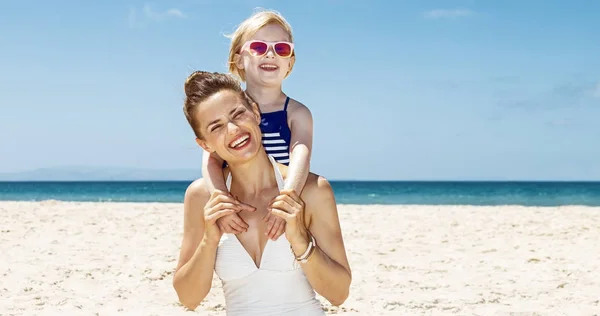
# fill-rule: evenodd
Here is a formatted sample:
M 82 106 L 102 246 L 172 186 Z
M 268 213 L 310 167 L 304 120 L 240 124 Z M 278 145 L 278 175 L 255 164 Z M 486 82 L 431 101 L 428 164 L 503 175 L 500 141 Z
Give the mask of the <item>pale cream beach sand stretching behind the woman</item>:
M 225 315 L 171 286 L 181 204 L 0 202 L 0 315 Z M 340 205 L 347 315 L 600 315 L 600 208 Z

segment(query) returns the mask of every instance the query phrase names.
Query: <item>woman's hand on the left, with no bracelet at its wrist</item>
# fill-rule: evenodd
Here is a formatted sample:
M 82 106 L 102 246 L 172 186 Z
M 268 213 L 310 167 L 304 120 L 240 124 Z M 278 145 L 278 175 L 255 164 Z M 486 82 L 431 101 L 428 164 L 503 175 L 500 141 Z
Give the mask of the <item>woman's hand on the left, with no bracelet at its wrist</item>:
M 223 216 L 236 214 L 241 210 L 242 207 L 231 195 L 215 190 L 204 206 L 204 238 L 209 242 L 218 243 L 224 231 L 217 225 L 217 220 Z

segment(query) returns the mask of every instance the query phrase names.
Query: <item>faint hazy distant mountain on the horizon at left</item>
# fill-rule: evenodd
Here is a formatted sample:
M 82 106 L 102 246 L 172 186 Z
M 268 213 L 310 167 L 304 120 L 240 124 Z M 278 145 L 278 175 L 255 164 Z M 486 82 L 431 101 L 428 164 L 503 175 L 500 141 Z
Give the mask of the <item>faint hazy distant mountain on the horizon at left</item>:
M 188 181 L 202 176 L 198 169 L 61 167 L 0 173 L 0 181 Z

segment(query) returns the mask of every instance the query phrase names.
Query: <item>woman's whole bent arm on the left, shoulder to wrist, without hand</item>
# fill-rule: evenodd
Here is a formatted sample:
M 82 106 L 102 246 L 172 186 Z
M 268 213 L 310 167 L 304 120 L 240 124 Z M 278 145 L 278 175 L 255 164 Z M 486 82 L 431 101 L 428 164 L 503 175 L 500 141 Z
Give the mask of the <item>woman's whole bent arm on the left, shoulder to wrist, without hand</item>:
M 219 240 L 205 235 L 204 206 L 210 195 L 205 182 L 197 180 L 185 192 L 183 241 L 173 287 L 179 301 L 194 310 L 210 291 Z

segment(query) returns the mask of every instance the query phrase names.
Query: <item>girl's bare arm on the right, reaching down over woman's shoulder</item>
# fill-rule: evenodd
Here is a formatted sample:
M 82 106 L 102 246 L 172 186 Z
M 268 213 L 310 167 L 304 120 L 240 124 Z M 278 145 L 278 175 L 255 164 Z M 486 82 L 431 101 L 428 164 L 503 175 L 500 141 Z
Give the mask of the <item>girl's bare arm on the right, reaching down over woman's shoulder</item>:
M 313 143 L 313 119 L 310 110 L 301 103 L 296 103 L 290 111 L 290 163 L 285 180 L 285 189 L 301 194 L 306 178 L 310 172 L 310 158 Z

